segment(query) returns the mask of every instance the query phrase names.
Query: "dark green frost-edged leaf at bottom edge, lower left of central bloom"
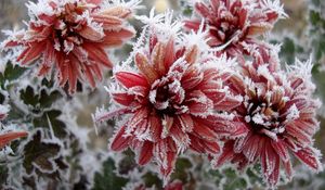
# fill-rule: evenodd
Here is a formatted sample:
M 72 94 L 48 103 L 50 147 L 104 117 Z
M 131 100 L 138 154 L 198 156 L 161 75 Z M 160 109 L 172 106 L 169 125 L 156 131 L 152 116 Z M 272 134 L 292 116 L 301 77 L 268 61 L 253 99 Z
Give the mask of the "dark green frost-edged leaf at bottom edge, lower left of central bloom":
M 127 178 L 117 176 L 114 160 L 109 157 L 103 163 L 102 173 L 95 173 L 93 190 L 121 190 L 127 182 Z

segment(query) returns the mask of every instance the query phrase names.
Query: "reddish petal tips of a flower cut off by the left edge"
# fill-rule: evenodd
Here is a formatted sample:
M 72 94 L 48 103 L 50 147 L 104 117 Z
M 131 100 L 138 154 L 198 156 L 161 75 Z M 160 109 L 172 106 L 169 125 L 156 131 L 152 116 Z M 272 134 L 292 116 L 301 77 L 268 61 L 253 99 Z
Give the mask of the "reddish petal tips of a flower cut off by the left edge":
M 0 121 L 5 119 L 9 112 L 9 107 L 0 104 Z M 8 131 L 3 129 L 2 124 L 0 123 L 0 150 L 8 145 L 11 141 L 26 137 L 28 134 L 26 131 Z

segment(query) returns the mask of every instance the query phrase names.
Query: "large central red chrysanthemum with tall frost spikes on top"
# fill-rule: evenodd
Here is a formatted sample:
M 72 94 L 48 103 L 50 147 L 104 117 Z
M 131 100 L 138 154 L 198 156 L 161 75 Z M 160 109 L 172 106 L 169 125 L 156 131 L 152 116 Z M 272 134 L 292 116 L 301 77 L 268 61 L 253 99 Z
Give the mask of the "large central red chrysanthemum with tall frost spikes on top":
M 177 23 L 168 16 L 166 23 L 152 26 L 150 39 L 135 48 L 138 71 L 115 72 L 116 83 L 108 91 L 121 107 L 95 116 L 101 121 L 130 115 L 114 136 L 112 150 L 133 149 L 140 165 L 154 159 L 165 179 L 179 153 L 191 148 L 218 154 L 219 136 L 245 132 L 245 127 L 234 124 L 230 115 L 217 112 L 240 104 L 242 99 L 223 87 L 230 74 L 208 63 L 213 55 L 206 55 L 194 36 L 184 40 L 170 34 L 178 28 Z

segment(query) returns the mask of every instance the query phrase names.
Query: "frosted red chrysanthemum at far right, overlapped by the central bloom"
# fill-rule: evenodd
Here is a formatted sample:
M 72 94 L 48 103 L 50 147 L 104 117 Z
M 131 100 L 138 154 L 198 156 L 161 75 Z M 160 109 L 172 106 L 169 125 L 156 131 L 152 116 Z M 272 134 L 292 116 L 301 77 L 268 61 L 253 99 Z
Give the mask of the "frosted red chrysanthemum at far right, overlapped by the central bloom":
M 244 97 L 236 109 L 237 121 L 246 125 L 246 136 L 229 140 L 214 166 L 231 161 L 244 168 L 260 163 L 268 185 L 275 187 L 280 172 L 292 175 L 290 155 L 314 170 L 321 170 L 320 152 L 313 148 L 318 129 L 316 110 L 321 103 L 313 99 L 311 63 L 297 61 L 287 72 L 271 64 L 247 63 L 238 75 L 229 80 L 230 88 Z

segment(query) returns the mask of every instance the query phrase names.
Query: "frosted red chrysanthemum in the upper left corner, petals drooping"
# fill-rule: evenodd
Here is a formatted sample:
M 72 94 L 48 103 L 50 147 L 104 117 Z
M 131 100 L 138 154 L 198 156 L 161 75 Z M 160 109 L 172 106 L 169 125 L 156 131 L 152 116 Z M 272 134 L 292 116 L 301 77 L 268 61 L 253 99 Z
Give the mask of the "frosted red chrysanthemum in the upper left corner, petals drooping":
M 134 35 L 126 20 L 132 14 L 128 3 L 102 0 L 41 0 L 27 4 L 30 21 L 27 30 L 9 33 L 4 48 L 23 47 L 17 56 L 22 65 L 41 59 L 39 75 L 53 68 L 61 86 L 69 92 L 77 80 L 87 79 L 92 87 L 101 80 L 103 68 L 113 67 L 106 49 L 120 46 Z

